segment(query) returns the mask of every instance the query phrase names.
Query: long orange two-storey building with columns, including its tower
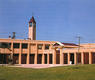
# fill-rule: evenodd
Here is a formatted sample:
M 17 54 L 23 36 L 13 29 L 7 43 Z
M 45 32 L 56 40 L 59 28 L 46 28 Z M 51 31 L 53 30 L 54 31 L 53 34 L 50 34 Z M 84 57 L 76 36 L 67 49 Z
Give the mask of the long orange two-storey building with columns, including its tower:
M 36 21 L 29 21 L 27 40 L 0 39 L 0 64 L 94 64 L 95 44 L 36 40 Z

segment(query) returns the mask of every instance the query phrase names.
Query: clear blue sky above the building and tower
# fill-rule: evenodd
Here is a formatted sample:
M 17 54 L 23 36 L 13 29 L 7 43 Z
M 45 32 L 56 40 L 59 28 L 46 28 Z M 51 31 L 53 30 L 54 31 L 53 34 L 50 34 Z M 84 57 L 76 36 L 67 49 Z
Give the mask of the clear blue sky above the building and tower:
M 95 43 L 95 0 L 0 0 L 0 38 L 28 38 L 32 16 L 37 40 Z

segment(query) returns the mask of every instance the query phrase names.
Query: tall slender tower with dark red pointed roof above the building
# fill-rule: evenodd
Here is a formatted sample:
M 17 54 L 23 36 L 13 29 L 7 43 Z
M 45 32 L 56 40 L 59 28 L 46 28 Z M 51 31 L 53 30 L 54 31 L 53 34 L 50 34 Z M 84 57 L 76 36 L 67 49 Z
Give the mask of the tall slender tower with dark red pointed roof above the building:
M 29 21 L 29 34 L 28 34 L 28 38 L 30 40 L 36 40 L 36 21 L 34 19 L 34 17 L 32 16 L 32 18 Z

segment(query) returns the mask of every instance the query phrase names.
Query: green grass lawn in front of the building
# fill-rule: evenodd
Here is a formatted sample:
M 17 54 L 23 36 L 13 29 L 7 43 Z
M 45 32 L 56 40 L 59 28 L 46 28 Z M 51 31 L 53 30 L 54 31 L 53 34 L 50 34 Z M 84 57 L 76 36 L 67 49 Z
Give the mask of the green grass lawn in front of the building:
M 0 80 L 95 80 L 95 64 L 47 69 L 0 66 Z

